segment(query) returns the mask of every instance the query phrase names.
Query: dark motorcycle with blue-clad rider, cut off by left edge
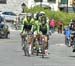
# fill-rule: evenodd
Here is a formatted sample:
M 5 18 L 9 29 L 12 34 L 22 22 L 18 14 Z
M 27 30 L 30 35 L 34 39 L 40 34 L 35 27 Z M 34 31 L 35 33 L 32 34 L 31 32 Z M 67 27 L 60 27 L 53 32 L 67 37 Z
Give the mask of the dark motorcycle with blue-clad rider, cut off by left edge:
M 0 38 L 8 38 L 9 34 L 8 25 L 6 25 L 4 18 L 0 16 Z

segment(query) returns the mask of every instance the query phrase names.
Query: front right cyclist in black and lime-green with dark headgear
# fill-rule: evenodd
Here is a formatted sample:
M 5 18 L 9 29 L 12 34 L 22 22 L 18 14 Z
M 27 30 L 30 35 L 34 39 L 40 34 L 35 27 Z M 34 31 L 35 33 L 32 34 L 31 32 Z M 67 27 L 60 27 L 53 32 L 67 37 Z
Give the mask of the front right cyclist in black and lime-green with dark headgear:
M 44 36 L 44 41 L 45 41 L 45 50 L 48 51 L 48 32 L 49 32 L 49 25 L 48 23 L 46 22 L 46 16 L 42 16 L 41 17 L 41 24 L 39 25 L 39 35 L 40 37 L 42 35 L 45 35 Z M 48 53 L 47 53 L 48 54 Z

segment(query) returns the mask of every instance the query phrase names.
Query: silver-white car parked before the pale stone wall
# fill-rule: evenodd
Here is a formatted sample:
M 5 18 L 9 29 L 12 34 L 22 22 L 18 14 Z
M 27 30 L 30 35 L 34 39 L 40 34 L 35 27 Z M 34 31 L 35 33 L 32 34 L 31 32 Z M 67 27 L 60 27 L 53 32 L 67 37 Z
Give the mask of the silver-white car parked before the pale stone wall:
M 1 15 L 5 18 L 6 21 L 14 21 L 17 18 L 17 15 L 11 11 L 2 11 Z

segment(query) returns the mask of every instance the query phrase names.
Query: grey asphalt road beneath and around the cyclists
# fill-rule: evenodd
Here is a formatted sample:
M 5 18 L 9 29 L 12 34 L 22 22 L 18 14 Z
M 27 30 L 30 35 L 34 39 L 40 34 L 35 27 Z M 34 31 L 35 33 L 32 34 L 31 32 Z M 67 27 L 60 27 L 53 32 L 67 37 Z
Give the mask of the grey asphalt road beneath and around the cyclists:
M 64 44 L 64 35 L 54 33 L 49 40 L 49 55 L 24 56 L 19 31 L 11 31 L 10 39 L 0 39 L 0 66 L 75 66 L 75 53 Z

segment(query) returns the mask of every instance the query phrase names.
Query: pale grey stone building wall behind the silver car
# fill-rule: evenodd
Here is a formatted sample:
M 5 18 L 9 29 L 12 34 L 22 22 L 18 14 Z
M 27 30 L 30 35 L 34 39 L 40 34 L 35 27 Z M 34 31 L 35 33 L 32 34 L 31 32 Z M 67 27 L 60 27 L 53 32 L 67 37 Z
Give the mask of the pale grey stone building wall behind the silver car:
M 6 0 L 6 3 L 0 2 L 0 10 L 8 10 L 8 11 L 19 13 L 22 12 L 22 7 L 21 7 L 22 3 L 28 3 L 28 1 L 27 0 Z

